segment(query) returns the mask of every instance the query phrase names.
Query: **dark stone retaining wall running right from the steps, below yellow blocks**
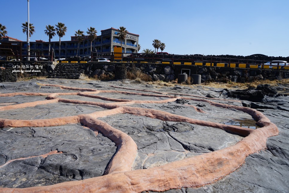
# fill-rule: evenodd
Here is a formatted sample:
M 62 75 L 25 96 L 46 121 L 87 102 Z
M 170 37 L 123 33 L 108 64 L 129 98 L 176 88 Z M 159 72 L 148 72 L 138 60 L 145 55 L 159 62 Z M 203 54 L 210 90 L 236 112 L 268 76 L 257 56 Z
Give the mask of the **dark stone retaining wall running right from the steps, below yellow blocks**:
M 92 63 L 87 69 L 90 76 L 111 74 L 115 72 L 115 67 L 119 63 Z M 170 65 L 170 64 L 150 64 L 150 63 L 124 63 L 127 70 L 134 67 L 142 70 L 153 80 L 171 81 L 177 79 L 178 74 L 187 73 L 201 75 L 201 82 L 252 82 L 254 80 L 281 80 L 289 78 L 288 70 L 263 70 L 263 69 L 242 69 L 227 67 L 208 67 L 195 65 Z

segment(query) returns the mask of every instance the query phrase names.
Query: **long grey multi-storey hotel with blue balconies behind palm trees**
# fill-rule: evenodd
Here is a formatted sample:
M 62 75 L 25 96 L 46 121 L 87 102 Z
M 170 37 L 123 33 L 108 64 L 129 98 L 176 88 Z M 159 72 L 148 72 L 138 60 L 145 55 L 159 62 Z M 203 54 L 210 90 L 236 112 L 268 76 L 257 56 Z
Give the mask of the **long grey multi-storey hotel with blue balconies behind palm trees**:
M 123 53 L 137 53 L 139 46 L 139 35 L 128 32 L 124 41 L 121 42 L 119 38 L 119 30 L 115 28 L 109 28 L 106 30 L 101 30 L 101 35 L 92 42 L 92 51 L 95 49 L 97 52 L 113 52 L 114 47 L 122 47 Z M 55 39 L 57 36 L 54 37 Z M 13 41 L 13 42 L 12 42 Z M 17 42 L 17 43 L 16 43 Z M 17 48 L 16 45 L 19 44 Z M 75 56 L 77 54 L 77 40 L 75 36 L 71 36 L 70 41 L 61 41 L 59 50 L 59 41 L 51 41 L 51 48 L 54 49 L 55 57 L 67 58 L 70 56 Z M 5 45 L 5 46 L 4 46 Z M 83 41 L 79 44 L 78 56 L 90 55 L 90 39 L 89 36 L 84 36 Z M 27 55 L 27 42 L 23 42 L 11 37 L 3 37 L 0 40 L 0 48 L 13 47 L 13 52 L 16 54 L 18 51 L 22 55 Z M 19 49 L 19 47 L 21 49 Z M 17 49 L 17 50 L 16 50 Z M 18 50 L 19 49 L 19 50 Z M 39 51 L 44 56 L 48 56 L 49 42 L 43 40 L 36 40 L 35 42 L 30 42 L 30 54 Z

